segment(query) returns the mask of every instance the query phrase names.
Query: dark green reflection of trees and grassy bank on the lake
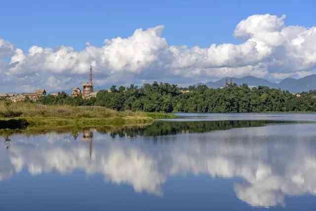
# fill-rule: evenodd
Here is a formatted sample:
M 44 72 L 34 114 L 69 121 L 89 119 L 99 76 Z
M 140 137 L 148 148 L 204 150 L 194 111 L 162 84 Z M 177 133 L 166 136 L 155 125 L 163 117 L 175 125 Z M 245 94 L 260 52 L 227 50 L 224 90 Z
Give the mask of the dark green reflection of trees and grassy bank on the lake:
M 160 136 L 174 135 L 180 133 L 209 132 L 213 130 L 226 130 L 237 127 L 261 127 L 269 123 L 290 123 L 290 121 L 258 121 L 258 120 L 235 120 L 235 121 L 204 121 L 204 122 L 164 122 L 157 121 L 152 125 L 124 126 L 124 127 L 96 127 L 98 132 L 111 134 L 115 137 L 136 137 L 141 136 Z M 293 122 L 294 123 L 294 122 Z M 32 127 L 27 129 L 0 130 L 0 136 L 13 134 L 37 135 L 47 133 L 71 134 L 75 139 L 79 134 L 89 128 L 76 127 Z

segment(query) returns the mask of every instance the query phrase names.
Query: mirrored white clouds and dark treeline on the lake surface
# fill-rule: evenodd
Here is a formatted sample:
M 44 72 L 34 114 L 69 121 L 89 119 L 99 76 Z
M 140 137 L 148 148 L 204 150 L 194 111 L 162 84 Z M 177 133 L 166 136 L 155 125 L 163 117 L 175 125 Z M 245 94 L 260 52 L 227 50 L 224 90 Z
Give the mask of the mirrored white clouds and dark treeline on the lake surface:
M 13 135 L 10 147 L 0 149 L 0 180 L 23 170 L 83 170 L 163 196 L 170 177 L 208 174 L 241 178 L 234 184 L 237 198 L 264 207 L 284 205 L 286 195 L 316 194 L 316 125 L 274 123 L 158 122 L 112 132 L 87 129 L 77 140 L 67 133 Z

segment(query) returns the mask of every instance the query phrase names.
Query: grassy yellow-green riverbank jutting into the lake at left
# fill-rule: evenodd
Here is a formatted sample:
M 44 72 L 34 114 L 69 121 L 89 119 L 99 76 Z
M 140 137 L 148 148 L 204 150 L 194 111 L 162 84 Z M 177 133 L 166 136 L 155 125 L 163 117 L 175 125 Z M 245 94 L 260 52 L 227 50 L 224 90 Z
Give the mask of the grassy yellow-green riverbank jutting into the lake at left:
M 99 106 L 51 106 L 0 102 L 0 120 L 23 119 L 28 127 L 97 127 L 152 124 L 173 114 L 114 111 Z M 3 122 L 2 122 L 3 123 Z

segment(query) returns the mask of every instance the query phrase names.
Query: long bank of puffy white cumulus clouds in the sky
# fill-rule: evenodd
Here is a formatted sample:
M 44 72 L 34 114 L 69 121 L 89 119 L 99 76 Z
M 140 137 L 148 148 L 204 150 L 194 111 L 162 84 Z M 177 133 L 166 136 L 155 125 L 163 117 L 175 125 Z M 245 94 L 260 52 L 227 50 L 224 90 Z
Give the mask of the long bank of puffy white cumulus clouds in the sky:
M 233 33 L 242 43 L 206 48 L 169 45 L 163 29 L 136 29 L 130 37 L 105 40 L 101 47 L 87 42 L 80 51 L 34 45 L 23 52 L 0 39 L 0 79 L 16 90 L 21 84 L 65 89 L 86 80 L 90 65 L 98 86 L 153 80 L 194 84 L 247 75 L 280 80 L 313 74 L 316 67 L 316 27 L 286 26 L 285 15 L 249 16 Z

